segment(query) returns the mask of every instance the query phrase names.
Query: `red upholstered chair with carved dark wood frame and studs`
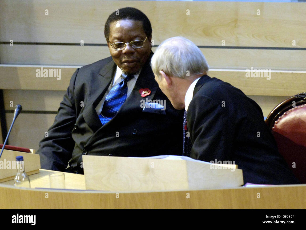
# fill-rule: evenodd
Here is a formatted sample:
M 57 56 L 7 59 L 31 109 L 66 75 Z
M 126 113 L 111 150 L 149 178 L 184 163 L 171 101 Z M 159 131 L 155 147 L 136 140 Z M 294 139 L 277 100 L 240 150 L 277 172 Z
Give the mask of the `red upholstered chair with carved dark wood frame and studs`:
M 278 152 L 303 184 L 306 184 L 306 92 L 281 102 L 266 119 Z M 295 162 L 295 168 L 293 168 Z

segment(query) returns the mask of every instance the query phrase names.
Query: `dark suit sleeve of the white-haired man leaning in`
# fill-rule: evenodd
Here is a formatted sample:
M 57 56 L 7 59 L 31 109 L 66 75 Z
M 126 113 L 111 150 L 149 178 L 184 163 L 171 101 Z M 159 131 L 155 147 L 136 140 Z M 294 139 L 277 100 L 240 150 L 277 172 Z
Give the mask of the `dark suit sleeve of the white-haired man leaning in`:
M 225 120 L 221 104 L 210 97 L 192 99 L 187 112 L 187 129 L 192 142 L 191 158 L 210 162 L 226 160 L 230 152 L 233 129 Z

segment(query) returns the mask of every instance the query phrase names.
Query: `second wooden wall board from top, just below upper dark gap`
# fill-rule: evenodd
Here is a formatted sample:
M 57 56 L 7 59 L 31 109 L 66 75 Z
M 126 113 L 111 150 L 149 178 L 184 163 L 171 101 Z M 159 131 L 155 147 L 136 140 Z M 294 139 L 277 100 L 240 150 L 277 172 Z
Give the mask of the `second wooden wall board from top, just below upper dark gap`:
M 190 38 L 192 41 L 193 39 Z M 306 71 L 306 50 L 200 48 L 210 68 Z M 156 47 L 152 48 L 154 52 Z M 83 66 L 110 56 L 106 46 L 1 45 L 1 64 Z

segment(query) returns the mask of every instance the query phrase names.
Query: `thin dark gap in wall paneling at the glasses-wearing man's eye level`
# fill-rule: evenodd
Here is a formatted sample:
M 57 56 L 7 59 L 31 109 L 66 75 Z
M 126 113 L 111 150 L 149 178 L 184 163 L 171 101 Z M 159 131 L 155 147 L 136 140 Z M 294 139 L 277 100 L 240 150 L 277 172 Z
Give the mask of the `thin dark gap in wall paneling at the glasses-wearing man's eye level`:
M 10 42 L 0 42 L 9 45 Z M 51 43 L 51 42 L 14 42 L 15 45 L 49 45 L 49 46 L 80 46 L 80 43 Z M 84 43 L 84 46 L 107 46 L 107 44 Z M 153 47 L 158 47 L 154 45 Z M 198 46 L 206 49 L 278 49 L 278 50 L 306 50 L 297 47 L 263 47 L 263 46 Z

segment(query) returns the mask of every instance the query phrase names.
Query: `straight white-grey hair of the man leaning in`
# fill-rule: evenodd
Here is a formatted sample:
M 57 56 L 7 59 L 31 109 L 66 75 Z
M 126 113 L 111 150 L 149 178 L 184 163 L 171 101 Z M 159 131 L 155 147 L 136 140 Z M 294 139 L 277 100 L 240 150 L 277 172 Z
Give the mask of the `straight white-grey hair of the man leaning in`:
M 190 78 L 206 74 L 208 64 L 201 50 L 193 42 L 184 37 L 173 37 L 157 47 L 151 59 L 151 68 L 159 79 L 160 70 L 168 76 Z

